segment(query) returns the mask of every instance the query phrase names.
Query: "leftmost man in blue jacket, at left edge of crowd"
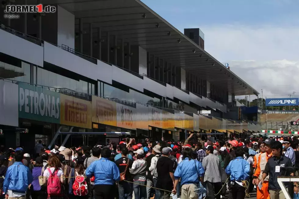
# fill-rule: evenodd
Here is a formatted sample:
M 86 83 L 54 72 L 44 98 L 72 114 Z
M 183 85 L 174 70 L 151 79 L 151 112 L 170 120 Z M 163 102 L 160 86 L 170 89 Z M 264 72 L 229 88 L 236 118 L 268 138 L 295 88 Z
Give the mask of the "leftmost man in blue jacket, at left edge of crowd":
M 33 181 L 33 176 L 30 169 L 23 165 L 23 151 L 17 150 L 14 154 L 16 160 L 6 172 L 3 182 L 3 192 L 5 198 L 26 198 L 28 186 Z

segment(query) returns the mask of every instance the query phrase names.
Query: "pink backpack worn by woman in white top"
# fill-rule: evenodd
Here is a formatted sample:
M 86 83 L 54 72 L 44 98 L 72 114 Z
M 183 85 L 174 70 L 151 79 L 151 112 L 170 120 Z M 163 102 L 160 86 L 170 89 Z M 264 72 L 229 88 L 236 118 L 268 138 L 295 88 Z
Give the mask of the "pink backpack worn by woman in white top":
M 61 183 L 60 178 L 57 176 L 57 172 L 59 169 L 54 169 L 51 172 L 50 168 L 47 169 L 50 173 L 47 183 L 47 192 L 50 196 L 56 196 L 61 194 Z

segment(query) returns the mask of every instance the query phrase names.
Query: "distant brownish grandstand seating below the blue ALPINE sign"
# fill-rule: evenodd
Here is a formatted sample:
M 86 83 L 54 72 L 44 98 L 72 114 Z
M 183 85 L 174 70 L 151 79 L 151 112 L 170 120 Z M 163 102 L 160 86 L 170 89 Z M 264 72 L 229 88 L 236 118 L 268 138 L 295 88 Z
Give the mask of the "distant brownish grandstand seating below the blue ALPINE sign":
M 266 121 L 268 121 L 268 130 L 284 130 L 290 129 L 290 121 L 297 121 L 299 114 L 261 114 L 261 128 L 267 129 Z M 280 129 L 280 127 L 283 129 Z

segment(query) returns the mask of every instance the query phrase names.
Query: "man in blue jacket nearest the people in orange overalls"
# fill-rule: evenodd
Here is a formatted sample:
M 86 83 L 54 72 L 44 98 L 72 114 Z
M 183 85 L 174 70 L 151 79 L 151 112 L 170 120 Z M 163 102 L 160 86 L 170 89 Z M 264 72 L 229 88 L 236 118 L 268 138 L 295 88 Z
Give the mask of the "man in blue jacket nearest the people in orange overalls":
M 244 199 L 245 190 L 242 180 L 246 180 L 250 174 L 250 165 L 244 160 L 244 150 L 237 148 L 235 152 L 236 158 L 229 162 L 225 172 L 230 175 L 230 183 L 233 199 Z

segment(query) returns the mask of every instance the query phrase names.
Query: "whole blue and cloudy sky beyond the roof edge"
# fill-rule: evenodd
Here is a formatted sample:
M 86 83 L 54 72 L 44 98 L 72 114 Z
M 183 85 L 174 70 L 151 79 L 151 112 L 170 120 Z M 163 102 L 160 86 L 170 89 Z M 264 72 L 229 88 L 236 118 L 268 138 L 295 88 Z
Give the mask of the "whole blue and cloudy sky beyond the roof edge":
M 293 92 L 299 97 L 299 1 L 142 2 L 181 32 L 200 28 L 205 50 L 221 63 L 229 63 L 259 97 L 261 89 L 264 98 L 289 97 Z

